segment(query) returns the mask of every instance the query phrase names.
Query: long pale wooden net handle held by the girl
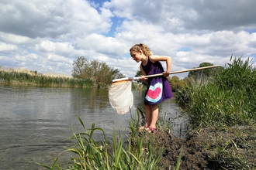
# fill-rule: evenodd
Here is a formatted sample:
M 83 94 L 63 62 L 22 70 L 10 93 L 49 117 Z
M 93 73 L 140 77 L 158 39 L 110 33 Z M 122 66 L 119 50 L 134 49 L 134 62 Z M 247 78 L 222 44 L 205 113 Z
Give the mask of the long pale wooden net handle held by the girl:
M 219 66 L 221 66 L 221 65 L 202 66 L 202 67 L 198 67 L 198 68 L 194 68 L 194 69 L 173 71 L 170 74 L 185 73 L 185 72 L 195 71 L 195 70 L 211 69 L 211 68 L 216 68 L 216 67 L 219 67 Z M 145 77 L 153 77 L 153 76 L 163 76 L 163 73 L 152 74 L 152 75 L 148 75 L 148 76 L 145 76 Z M 112 83 L 115 83 L 115 82 L 118 82 L 118 81 L 125 81 L 125 80 L 140 80 L 140 76 L 125 77 L 125 78 L 121 78 L 121 79 L 114 79 L 114 80 L 112 80 Z

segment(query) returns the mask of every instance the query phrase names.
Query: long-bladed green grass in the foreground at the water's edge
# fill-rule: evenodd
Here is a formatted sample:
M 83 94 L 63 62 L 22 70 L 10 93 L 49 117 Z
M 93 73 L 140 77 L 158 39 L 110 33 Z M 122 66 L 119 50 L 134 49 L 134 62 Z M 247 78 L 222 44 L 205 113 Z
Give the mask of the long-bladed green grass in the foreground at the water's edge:
M 140 111 L 137 112 L 140 115 Z M 138 117 L 139 118 L 139 117 Z M 75 133 L 71 140 L 74 140 L 76 145 L 73 148 L 67 148 L 66 151 L 72 152 L 71 162 L 68 162 L 66 168 L 61 168 L 58 165 L 56 158 L 52 166 L 43 165 L 47 169 L 138 169 L 150 170 L 161 169 L 160 160 L 162 151 L 156 150 L 153 145 L 153 134 L 148 135 L 143 131 L 138 136 L 137 125 L 139 121 L 135 119 L 130 120 L 131 134 L 127 141 L 113 131 L 112 141 L 108 141 L 106 134 L 102 128 L 95 128 L 95 124 L 87 129 L 85 124 L 78 117 L 83 132 Z M 100 131 L 104 138 L 102 141 L 95 141 L 93 134 L 95 131 Z M 144 140 L 144 138 L 149 140 Z M 182 151 L 178 156 L 178 161 L 173 169 L 179 168 L 182 158 Z

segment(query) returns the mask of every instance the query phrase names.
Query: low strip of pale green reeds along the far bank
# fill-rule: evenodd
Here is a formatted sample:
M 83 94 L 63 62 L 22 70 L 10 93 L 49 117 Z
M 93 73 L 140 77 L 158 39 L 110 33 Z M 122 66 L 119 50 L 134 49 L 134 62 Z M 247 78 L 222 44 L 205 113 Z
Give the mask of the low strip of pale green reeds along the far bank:
M 0 83 L 36 85 L 45 87 L 93 87 L 91 79 L 74 79 L 67 76 L 43 75 L 36 71 L 27 70 L 0 70 Z

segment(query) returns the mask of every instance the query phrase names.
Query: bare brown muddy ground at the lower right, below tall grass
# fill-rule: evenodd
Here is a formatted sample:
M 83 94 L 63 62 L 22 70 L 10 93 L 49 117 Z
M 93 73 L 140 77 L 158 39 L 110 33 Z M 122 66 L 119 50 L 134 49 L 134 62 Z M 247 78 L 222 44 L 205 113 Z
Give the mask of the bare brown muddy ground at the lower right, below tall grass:
M 174 169 L 182 149 L 179 169 L 256 169 L 256 131 L 239 128 L 240 132 L 237 127 L 223 131 L 207 128 L 190 132 L 183 139 L 168 131 L 157 131 L 153 134 L 154 147 L 163 149 L 161 167 Z

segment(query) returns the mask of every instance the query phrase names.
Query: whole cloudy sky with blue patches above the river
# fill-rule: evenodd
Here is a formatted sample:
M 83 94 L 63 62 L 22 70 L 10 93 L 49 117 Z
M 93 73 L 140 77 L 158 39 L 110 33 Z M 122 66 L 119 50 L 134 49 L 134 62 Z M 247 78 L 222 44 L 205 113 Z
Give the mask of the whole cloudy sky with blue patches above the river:
M 130 47 L 171 56 L 171 71 L 256 57 L 254 0 L 0 0 L 0 66 L 71 76 L 78 56 L 135 76 Z M 163 63 L 165 66 L 165 63 Z M 187 73 L 175 76 L 181 79 Z

